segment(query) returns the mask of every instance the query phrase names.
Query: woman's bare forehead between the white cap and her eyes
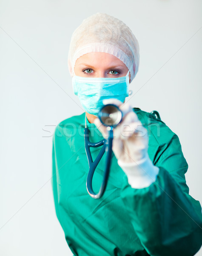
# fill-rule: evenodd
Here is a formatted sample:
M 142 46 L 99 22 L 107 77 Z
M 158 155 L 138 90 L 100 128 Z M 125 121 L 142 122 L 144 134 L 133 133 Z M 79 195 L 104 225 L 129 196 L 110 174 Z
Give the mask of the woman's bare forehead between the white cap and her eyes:
M 112 54 L 106 52 L 88 52 L 80 56 L 75 64 L 76 66 L 94 66 L 94 67 L 105 67 L 105 66 L 122 66 L 126 67 L 125 64 Z

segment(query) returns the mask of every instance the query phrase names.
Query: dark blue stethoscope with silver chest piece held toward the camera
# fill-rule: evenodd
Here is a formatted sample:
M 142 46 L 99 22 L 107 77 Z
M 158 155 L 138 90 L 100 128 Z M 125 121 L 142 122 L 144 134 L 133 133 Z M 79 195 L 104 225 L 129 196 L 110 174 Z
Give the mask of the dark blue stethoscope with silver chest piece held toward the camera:
M 85 152 L 86 152 L 86 155 L 88 158 L 88 164 L 89 164 L 89 172 L 86 180 L 86 188 L 87 188 L 88 194 L 94 199 L 101 198 L 101 196 L 105 192 L 109 171 L 110 171 L 110 164 L 111 164 L 113 129 L 121 122 L 123 114 L 124 113 L 117 107 L 117 105 L 114 105 L 114 104 L 104 105 L 100 109 L 98 113 L 98 118 L 100 119 L 100 122 L 107 127 L 108 137 L 106 139 L 100 140 L 97 143 L 92 143 L 89 140 L 89 130 L 86 124 L 86 116 L 85 116 L 84 140 L 85 140 Z M 102 146 L 102 149 L 100 150 L 96 159 L 93 161 L 90 148 L 91 147 L 97 148 L 100 146 Z M 100 186 L 100 190 L 96 194 L 92 188 L 93 175 L 98 163 L 100 162 L 105 152 L 106 152 L 105 171 L 103 175 L 102 184 Z

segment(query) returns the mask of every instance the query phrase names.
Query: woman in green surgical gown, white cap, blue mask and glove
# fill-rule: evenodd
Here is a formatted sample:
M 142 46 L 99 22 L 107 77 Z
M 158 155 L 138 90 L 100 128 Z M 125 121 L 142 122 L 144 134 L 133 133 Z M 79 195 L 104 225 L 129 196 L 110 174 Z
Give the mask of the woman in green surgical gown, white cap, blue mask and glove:
M 71 37 L 68 67 L 85 112 L 55 129 L 52 186 L 57 218 L 74 256 L 194 255 L 202 245 L 202 210 L 189 195 L 179 138 L 159 116 L 126 103 L 139 67 L 131 30 L 110 15 L 86 18 Z M 86 189 L 84 128 L 86 122 L 91 142 L 107 138 L 97 115 L 108 103 L 125 115 L 114 129 L 106 190 L 94 199 Z M 93 160 L 99 151 L 91 148 Z M 105 155 L 93 178 L 96 192 L 104 166 Z

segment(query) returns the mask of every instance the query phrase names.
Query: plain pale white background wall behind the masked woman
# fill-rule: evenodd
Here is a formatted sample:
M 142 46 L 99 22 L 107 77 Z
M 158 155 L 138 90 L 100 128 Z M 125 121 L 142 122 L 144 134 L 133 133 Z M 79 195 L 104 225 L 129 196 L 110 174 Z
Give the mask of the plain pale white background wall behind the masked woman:
M 159 111 L 179 136 L 190 194 L 202 202 L 202 1 L 0 0 L 2 256 L 72 255 L 54 209 L 52 134 L 63 119 L 83 113 L 68 47 L 74 29 L 97 12 L 122 20 L 139 41 L 129 102 Z

